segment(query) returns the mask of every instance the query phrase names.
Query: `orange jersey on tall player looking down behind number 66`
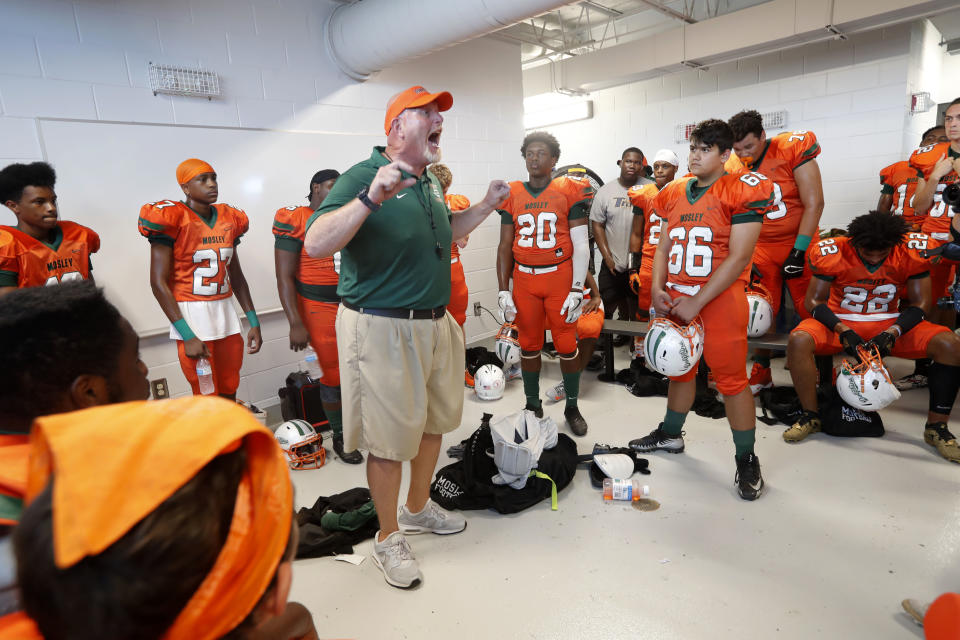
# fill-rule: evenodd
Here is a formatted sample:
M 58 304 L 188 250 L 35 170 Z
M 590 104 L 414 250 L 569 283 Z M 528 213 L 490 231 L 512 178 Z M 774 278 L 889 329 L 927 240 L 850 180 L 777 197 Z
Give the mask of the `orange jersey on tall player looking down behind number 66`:
M 812 131 L 787 131 L 767 140 L 759 158 L 744 163 L 773 181 L 773 207 L 763 221 L 758 245 L 792 245 L 803 217 L 803 202 L 793 178 L 794 170 L 820 155 L 820 143 Z

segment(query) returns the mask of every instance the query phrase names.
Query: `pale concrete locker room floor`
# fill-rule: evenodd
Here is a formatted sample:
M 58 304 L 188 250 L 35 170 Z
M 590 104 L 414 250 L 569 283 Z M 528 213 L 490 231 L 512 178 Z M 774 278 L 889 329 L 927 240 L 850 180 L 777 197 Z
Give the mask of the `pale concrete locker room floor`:
M 617 358 L 626 366 L 626 350 Z M 890 364 L 896 375 L 911 368 Z M 775 381 L 788 383 L 782 366 L 774 361 Z M 541 387 L 559 379 L 545 358 Z M 523 405 L 519 380 L 496 402 L 465 397 L 444 450 L 483 411 Z M 563 424 L 563 405 L 545 406 Z M 586 453 L 649 432 L 665 399 L 585 373 L 580 406 Z M 411 536 L 417 589 L 388 586 L 369 558 L 318 558 L 295 564 L 291 599 L 313 612 L 321 638 L 922 638 L 900 601 L 960 589 L 960 466 L 924 444 L 926 406 L 926 390 L 904 393 L 883 412 L 882 439 L 788 445 L 783 426 L 758 423 L 767 489 L 753 503 L 733 485 L 726 421 L 691 414 L 686 452 L 650 455 L 653 473 L 640 476 L 657 511 L 604 504 L 579 472 L 559 511 L 545 501 L 512 516 L 467 512 L 461 534 Z M 366 485 L 362 466 L 328 453 L 322 469 L 292 474 L 298 506 Z M 369 555 L 372 542 L 355 552 Z

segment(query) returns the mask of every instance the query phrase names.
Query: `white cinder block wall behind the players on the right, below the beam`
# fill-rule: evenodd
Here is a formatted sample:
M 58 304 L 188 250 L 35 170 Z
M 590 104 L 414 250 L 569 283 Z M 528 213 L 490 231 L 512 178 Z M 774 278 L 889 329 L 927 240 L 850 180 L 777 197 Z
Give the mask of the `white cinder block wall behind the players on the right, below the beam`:
M 593 119 L 548 130 L 560 141 L 562 163 L 582 162 L 607 180 L 619 175 L 616 161 L 629 146 L 648 158 L 673 149 L 686 171 L 677 124 L 786 109 L 787 128 L 814 131 L 823 147 L 822 226 L 846 226 L 876 206 L 878 171 L 905 159 L 932 125 L 934 112 L 909 115 L 910 92 L 931 91 L 941 101 L 960 93 L 958 69 L 939 40 L 923 21 L 605 89 L 591 95 Z

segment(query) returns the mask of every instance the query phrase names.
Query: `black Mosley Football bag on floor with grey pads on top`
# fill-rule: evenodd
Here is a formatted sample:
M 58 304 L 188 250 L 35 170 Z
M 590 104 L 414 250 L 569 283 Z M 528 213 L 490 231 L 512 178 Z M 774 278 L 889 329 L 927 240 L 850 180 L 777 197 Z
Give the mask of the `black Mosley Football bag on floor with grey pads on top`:
M 553 480 L 533 476 L 523 489 L 493 484 L 498 473 L 493 462 L 493 437 L 489 414 L 484 414 L 480 428 L 463 441 L 463 459 L 437 471 L 430 486 L 430 498 L 444 509 L 494 509 L 500 513 L 516 513 L 549 498 L 556 483 L 562 491 L 577 471 L 577 445 L 570 436 L 557 436 L 557 446 L 540 454 L 537 471 Z M 489 454 L 487 452 L 490 452 Z

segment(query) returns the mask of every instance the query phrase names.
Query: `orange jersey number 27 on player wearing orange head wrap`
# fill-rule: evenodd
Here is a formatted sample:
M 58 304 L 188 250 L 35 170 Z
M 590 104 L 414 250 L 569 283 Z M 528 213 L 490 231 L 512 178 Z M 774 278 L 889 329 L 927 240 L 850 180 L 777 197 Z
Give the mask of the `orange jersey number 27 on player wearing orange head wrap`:
M 182 202 L 143 205 L 138 227 L 150 242 L 173 248 L 170 289 L 177 302 L 223 300 L 233 295 L 228 267 L 247 232 L 247 214 L 227 204 L 212 206 L 209 222 Z

